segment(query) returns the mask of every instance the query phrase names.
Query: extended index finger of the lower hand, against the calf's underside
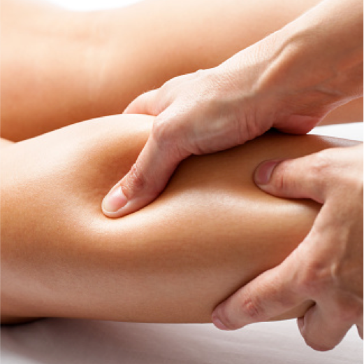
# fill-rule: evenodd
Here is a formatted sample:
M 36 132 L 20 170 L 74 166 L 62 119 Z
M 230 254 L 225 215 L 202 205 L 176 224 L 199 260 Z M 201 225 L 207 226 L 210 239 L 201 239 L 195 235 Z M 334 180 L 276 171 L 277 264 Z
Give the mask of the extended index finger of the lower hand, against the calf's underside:
M 295 267 L 294 253 L 281 265 L 270 269 L 246 286 L 240 288 L 226 301 L 219 304 L 212 314 L 212 321 L 221 330 L 235 330 L 250 323 L 268 321 L 284 314 L 307 298 L 293 289 Z

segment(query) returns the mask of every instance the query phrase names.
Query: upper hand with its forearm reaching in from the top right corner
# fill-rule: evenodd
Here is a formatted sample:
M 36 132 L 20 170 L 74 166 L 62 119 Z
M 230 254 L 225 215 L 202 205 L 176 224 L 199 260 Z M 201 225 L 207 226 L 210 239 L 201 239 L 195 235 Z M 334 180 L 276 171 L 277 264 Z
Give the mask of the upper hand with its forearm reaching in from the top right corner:
M 129 174 L 105 197 L 106 216 L 150 203 L 189 155 L 244 144 L 271 127 L 305 134 L 337 106 L 363 97 L 363 1 L 314 5 L 218 66 L 131 102 L 125 113 L 156 121 Z

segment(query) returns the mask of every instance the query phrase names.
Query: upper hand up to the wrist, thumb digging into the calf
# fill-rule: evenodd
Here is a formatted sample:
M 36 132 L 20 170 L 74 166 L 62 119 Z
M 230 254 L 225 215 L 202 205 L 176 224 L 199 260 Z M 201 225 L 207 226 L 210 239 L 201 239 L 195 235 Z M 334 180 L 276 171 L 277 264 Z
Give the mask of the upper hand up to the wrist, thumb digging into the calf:
M 243 144 L 270 127 L 311 130 L 335 97 L 310 85 L 312 78 L 294 70 L 298 64 L 292 64 L 290 81 L 286 65 L 273 55 L 277 44 L 272 34 L 215 69 L 173 78 L 132 102 L 125 113 L 157 117 L 135 165 L 103 201 L 104 214 L 118 218 L 150 203 L 191 154 Z

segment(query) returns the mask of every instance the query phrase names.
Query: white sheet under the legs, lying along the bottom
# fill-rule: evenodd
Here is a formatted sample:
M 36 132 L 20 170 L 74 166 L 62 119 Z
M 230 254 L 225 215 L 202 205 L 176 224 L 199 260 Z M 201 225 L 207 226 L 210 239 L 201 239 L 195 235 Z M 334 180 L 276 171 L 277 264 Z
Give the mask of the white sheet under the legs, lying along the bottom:
M 136 0 L 52 0 L 91 9 Z M 333 125 L 314 134 L 364 141 L 364 123 Z M 1 303 L 0 303 L 1 304 Z M 0 327 L 1 364 L 358 364 L 364 342 L 353 328 L 340 346 L 318 353 L 296 321 L 259 323 L 236 332 L 212 324 L 166 325 L 52 318 Z

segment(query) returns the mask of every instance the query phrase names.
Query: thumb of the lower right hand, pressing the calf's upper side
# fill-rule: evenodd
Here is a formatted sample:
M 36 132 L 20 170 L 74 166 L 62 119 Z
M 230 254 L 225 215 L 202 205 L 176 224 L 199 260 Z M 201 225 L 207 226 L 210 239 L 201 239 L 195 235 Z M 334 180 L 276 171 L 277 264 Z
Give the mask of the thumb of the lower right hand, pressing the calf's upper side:
M 310 198 L 323 203 L 330 174 L 326 151 L 294 160 L 270 160 L 254 173 L 259 188 L 279 197 Z

